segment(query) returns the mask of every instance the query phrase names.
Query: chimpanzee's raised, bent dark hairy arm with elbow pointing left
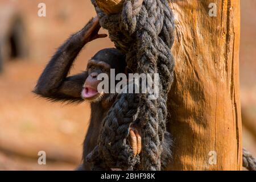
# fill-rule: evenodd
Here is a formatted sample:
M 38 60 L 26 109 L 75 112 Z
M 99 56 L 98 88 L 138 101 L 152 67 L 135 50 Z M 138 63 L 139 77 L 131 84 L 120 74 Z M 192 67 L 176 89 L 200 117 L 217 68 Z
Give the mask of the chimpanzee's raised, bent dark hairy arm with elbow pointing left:
M 53 55 L 47 67 L 40 76 L 34 93 L 53 101 L 82 101 L 81 91 L 86 72 L 67 77 L 73 61 L 86 43 L 103 38 L 98 35 L 100 24 L 98 18 L 93 18 L 81 31 L 72 35 Z

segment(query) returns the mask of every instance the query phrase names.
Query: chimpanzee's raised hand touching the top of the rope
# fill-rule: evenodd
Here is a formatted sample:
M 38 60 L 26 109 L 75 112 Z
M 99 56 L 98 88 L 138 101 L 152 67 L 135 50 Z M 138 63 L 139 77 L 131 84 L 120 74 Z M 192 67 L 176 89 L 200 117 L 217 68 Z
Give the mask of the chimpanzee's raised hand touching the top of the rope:
M 95 16 L 86 26 L 87 30 L 84 35 L 86 42 L 91 42 L 94 39 L 105 38 L 106 36 L 108 36 L 106 34 L 98 34 L 100 28 L 100 19 L 98 18 L 98 16 Z

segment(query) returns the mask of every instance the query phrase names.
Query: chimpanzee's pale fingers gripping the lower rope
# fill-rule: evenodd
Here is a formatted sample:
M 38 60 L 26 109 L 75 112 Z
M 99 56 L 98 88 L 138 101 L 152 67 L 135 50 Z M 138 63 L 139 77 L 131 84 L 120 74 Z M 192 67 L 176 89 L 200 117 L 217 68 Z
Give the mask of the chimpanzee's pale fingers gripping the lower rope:
M 141 153 L 141 135 L 134 126 L 130 128 L 130 144 L 133 149 L 133 155 L 139 155 Z

